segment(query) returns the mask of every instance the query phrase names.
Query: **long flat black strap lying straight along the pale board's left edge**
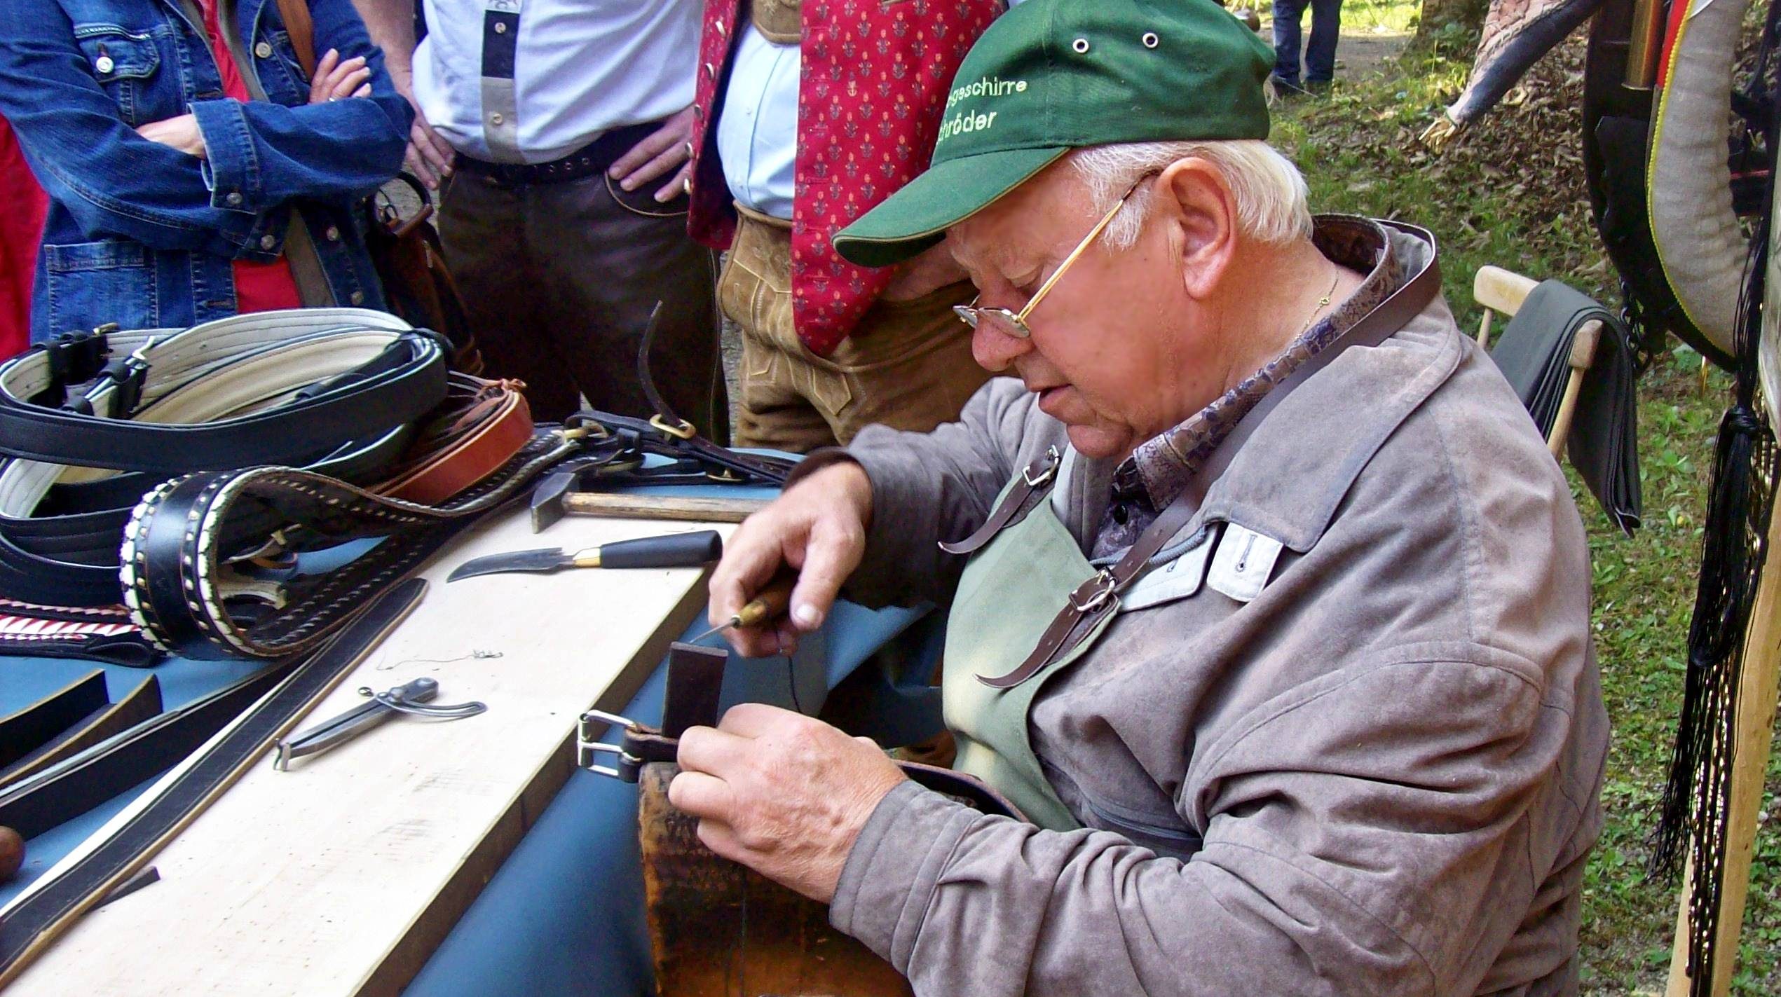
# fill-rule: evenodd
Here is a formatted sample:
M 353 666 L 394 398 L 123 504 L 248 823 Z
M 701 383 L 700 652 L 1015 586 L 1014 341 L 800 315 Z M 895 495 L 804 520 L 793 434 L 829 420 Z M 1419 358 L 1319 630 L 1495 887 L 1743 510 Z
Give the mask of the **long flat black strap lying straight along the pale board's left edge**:
M 297 666 L 278 689 L 242 714 L 221 739 L 160 790 L 153 801 L 55 879 L 14 904 L 0 922 L 0 986 L 50 945 L 82 913 L 128 879 L 194 814 L 223 794 L 267 746 L 321 701 L 335 684 L 420 602 L 426 582 L 403 582 L 372 602 L 337 641 Z

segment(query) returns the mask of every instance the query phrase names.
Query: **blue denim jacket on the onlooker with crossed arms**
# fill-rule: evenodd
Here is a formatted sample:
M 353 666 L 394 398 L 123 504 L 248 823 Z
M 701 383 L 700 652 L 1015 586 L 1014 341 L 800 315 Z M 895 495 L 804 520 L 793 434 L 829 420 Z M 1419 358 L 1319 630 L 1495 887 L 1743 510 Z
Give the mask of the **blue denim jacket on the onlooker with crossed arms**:
M 249 87 L 223 96 L 194 0 L 9 4 L 0 114 L 50 194 L 32 340 L 103 322 L 183 328 L 235 313 L 232 260 L 285 251 L 292 207 L 337 304 L 383 304 L 354 201 L 395 174 L 411 121 L 351 0 L 308 0 L 317 55 L 369 61 L 369 98 L 308 103 L 276 0 L 235 9 Z M 208 158 L 135 134 L 194 114 Z

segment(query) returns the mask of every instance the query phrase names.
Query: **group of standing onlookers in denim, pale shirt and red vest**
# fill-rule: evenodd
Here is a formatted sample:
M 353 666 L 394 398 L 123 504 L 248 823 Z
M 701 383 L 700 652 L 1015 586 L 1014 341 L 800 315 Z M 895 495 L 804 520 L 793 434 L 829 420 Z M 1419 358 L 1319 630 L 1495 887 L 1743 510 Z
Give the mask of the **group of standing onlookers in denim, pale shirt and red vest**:
M 921 173 L 1006 5 L 830 5 L 308 0 L 306 71 L 292 0 L 34 4 L 0 43 L 9 353 L 381 308 L 362 205 L 406 169 L 486 372 L 540 420 L 650 415 L 657 301 L 655 383 L 720 440 L 732 418 L 736 443 L 794 452 L 955 418 L 987 377 L 953 312 L 965 272 L 946 247 L 858 267 L 830 233 Z

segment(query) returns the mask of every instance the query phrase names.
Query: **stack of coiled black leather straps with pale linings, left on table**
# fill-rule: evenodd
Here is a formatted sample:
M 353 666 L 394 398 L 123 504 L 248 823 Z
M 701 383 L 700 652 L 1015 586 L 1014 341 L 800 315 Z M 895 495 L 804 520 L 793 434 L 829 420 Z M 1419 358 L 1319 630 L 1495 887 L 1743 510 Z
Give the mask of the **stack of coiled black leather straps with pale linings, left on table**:
M 443 397 L 440 340 L 356 308 L 43 344 L 0 365 L 0 596 L 118 604 L 144 491 L 253 465 L 376 481 Z

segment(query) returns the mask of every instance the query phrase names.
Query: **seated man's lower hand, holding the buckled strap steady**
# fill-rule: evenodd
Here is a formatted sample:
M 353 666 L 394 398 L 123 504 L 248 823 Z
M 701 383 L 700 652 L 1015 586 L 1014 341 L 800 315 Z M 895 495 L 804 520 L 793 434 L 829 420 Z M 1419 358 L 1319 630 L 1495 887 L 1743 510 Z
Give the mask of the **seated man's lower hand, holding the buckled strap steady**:
M 700 819 L 711 851 L 828 903 L 860 828 L 903 778 L 866 737 L 743 703 L 680 735 L 668 801 Z

